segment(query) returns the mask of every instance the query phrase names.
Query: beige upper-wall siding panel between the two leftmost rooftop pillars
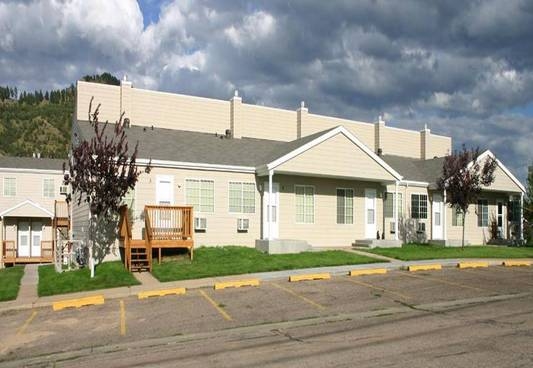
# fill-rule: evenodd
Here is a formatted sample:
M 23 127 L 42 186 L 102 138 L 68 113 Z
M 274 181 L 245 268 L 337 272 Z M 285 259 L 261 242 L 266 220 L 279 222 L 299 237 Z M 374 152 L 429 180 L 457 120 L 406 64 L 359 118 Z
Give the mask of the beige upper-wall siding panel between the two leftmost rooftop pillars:
M 135 125 L 224 133 L 230 128 L 229 101 L 133 89 L 132 111 L 126 112 Z

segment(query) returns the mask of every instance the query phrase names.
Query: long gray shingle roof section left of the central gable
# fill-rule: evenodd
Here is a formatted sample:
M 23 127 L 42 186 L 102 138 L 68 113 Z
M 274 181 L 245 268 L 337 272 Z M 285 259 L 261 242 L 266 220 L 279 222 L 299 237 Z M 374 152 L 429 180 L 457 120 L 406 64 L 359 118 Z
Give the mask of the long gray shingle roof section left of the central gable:
M 88 122 L 78 121 L 77 125 L 81 139 L 88 139 L 94 134 Z M 109 132 L 112 131 L 111 128 L 107 128 Z M 257 167 L 297 149 L 329 130 L 291 142 L 256 138 L 226 139 L 211 133 L 141 126 L 131 126 L 126 134 L 131 150 L 135 142 L 139 142 L 140 158 Z

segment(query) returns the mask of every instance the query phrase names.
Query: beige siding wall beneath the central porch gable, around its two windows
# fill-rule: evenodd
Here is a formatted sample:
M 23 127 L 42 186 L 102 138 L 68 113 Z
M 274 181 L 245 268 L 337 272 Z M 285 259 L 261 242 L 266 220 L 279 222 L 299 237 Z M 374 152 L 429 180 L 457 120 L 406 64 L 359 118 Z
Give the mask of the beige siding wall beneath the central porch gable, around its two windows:
M 280 185 L 279 236 L 281 239 L 304 239 L 313 246 L 350 246 L 356 239 L 365 238 L 365 189 L 383 187 L 378 183 L 311 178 L 289 175 L 274 175 Z M 296 223 L 295 185 L 312 185 L 315 188 L 315 221 L 313 224 Z M 337 224 L 337 188 L 354 189 L 354 223 Z M 377 231 L 383 227 L 383 204 L 376 198 Z

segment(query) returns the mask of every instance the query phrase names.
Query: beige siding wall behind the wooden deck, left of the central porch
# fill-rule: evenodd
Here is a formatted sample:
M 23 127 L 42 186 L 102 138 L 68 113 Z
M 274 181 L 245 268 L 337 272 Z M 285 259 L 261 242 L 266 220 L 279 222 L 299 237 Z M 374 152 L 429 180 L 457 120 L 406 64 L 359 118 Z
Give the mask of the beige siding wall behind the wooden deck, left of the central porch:
M 138 217 L 144 205 L 156 203 L 156 178 L 157 175 L 169 175 L 173 178 L 173 194 L 175 205 L 185 205 L 185 179 L 208 179 L 214 181 L 215 209 L 214 213 L 199 213 L 195 216 L 207 218 L 207 231 L 195 233 L 196 245 L 246 245 L 254 246 L 255 240 L 261 235 L 261 197 L 256 192 L 255 213 L 235 214 L 229 212 L 229 182 L 244 181 L 255 183 L 254 174 L 200 171 L 200 170 L 175 170 L 154 168 L 150 174 L 142 174 L 135 188 L 135 213 L 137 221 L 134 225 L 134 237 L 141 238 L 144 222 Z M 247 233 L 237 232 L 237 219 L 248 218 L 250 229 Z

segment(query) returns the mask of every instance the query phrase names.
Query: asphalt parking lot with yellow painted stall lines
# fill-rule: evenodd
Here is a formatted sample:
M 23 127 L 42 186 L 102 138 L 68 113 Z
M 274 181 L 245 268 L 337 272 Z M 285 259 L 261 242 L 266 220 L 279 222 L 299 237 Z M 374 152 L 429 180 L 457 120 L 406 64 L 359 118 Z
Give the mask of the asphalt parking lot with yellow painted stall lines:
M 532 288 L 531 267 L 447 268 L 295 283 L 278 280 L 259 287 L 224 290 L 194 289 L 185 295 L 108 299 L 104 305 L 56 312 L 50 307 L 11 311 L 0 316 L 0 364 L 16 366 L 17 360 L 30 357 L 247 326 L 446 310 L 529 298 Z

